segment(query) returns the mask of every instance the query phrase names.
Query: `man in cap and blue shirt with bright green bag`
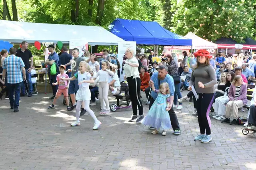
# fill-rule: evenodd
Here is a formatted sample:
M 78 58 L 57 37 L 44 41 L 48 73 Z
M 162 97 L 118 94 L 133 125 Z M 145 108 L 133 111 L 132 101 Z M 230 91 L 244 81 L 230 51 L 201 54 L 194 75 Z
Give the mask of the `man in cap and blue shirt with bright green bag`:
M 58 54 L 55 52 L 55 47 L 54 45 L 50 44 L 48 46 L 48 50 L 51 53 L 48 57 L 48 59 L 46 60 L 45 64 L 48 64 L 47 69 L 48 69 L 48 76 L 49 76 L 49 80 L 50 80 L 50 85 L 52 86 L 52 94 L 53 96 L 50 97 L 49 99 L 53 100 L 55 98 L 55 95 L 57 93 L 58 90 L 58 85 L 57 86 L 53 86 L 52 83 L 56 83 L 57 82 L 57 75 L 58 75 L 58 61 L 59 61 L 59 56 Z M 50 70 L 51 70 L 51 66 L 52 64 L 56 64 L 56 74 L 55 75 L 51 75 Z

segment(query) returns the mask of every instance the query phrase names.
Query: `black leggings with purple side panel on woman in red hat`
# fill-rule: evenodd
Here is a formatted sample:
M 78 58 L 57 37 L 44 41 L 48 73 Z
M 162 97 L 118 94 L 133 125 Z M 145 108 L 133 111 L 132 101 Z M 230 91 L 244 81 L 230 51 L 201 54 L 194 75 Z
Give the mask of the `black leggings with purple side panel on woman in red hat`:
M 206 135 L 211 134 L 211 119 L 209 117 L 210 107 L 214 100 L 215 93 L 200 93 L 198 100 L 196 101 L 196 111 L 198 116 L 198 123 L 200 127 L 200 133 Z

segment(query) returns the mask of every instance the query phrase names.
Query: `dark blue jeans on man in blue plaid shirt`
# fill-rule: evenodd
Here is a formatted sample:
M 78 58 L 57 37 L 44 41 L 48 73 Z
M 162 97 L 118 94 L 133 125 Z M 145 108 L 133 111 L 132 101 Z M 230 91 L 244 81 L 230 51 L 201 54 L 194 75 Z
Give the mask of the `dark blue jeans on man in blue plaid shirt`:
M 14 108 L 18 108 L 20 106 L 20 84 L 23 84 L 23 82 L 8 84 L 10 105 L 14 106 Z M 13 93 L 15 94 L 15 99 L 13 98 Z

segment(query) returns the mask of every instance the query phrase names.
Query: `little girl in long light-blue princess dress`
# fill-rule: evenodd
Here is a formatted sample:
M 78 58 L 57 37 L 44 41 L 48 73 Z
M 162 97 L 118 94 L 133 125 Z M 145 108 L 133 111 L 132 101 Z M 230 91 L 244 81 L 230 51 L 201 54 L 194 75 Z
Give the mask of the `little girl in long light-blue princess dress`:
M 151 80 L 150 80 L 151 81 Z M 170 88 L 168 83 L 160 84 L 159 90 L 155 89 L 152 83 L 152 90 L 158 93 L 158 96 L 146 115 L 143 124 L 155 127 L 152 134 L 157 134 L 159 130 L 163 130 L 162 135 L 166 136 L 166 131 L 171 128 L 171 121 L 168 111 L 170 106 Z

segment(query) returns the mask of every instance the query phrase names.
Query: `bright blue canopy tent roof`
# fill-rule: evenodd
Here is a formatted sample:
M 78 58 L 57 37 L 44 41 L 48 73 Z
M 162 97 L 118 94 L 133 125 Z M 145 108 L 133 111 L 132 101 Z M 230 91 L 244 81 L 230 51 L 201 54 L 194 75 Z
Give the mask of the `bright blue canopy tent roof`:
M 192 39 L 187 39 L 164 29 L 157 22 L 124 20 L 117 18 L 110 26 L 110 32 L 125 41 L 136 41 L 143 45 L 192 45 Z

